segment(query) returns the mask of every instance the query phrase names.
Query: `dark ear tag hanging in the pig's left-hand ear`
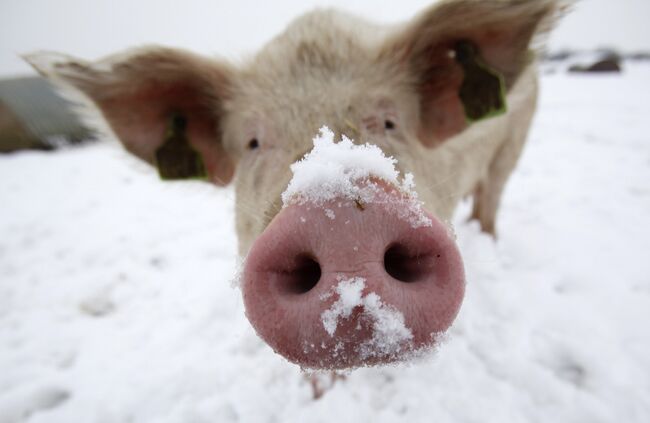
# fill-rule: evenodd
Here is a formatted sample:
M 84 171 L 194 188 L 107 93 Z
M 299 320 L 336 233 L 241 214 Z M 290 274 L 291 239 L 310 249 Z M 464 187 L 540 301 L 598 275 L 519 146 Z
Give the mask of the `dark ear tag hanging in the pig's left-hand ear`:
M 160 179 L 207 179 L 201 154 L 188 142 L 186 128 L 187 121 L 183 115 L 172 115 L 165 142 L 156 150 Z

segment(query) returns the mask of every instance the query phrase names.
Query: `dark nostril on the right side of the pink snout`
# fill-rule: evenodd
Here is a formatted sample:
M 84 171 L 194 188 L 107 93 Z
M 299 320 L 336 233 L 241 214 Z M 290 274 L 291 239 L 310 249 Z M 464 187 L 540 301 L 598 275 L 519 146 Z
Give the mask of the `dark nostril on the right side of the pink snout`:
M 433 255 L 413 254 L 401 244 L 392 244 L 384 254 L 386 273 L 401 282 L 417 282 L 433 269 Z

